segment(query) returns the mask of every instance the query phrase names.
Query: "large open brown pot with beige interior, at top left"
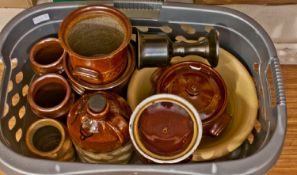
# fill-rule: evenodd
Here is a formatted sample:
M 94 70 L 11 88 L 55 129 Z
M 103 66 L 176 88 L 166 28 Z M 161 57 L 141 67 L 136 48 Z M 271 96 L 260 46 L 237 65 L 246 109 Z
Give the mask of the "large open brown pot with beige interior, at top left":
M 102 5 L 78 8 L 64 18 L 59 30 L 73 76 L 91 84 L 106 84 L 122 74 L 131 35 L 129 19 Z

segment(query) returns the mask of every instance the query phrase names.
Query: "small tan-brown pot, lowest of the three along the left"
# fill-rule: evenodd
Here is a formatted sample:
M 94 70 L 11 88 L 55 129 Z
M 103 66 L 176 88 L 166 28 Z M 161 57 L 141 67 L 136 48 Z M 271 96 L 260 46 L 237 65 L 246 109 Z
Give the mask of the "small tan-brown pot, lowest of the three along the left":
M 65 126 L 54 119 L 33 122 L 26 133 L 26 145 L 33 155 L 40 158 L 65 161 L 75 159 Z

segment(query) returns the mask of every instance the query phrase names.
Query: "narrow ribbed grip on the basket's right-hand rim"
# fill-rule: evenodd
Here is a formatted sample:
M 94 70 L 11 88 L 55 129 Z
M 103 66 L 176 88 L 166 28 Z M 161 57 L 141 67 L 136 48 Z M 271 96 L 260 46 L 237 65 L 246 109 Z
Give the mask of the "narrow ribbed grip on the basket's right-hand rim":
M 284 83 L 281 73 L 281 66 L 279 63 L 279 59 L 277 57 L 271 58 L 271 68 L 272 68 L 272 76 L 273 76 L 273 83 L 276 87 L 276 102 L 277 105 L 286 106 L 286 96 L 284 90 Z

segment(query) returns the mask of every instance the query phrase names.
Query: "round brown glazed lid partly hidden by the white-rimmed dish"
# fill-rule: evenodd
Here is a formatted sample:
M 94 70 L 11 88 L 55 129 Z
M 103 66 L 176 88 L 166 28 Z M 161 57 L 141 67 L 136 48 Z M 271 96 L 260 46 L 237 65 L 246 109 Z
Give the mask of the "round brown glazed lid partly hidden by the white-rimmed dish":
M 157 93 L 185 98 L 199 111 L 201 120 L 216 115 L 226 100 L 226 88 L 221 76 L 210 66 L 194 61 L 165 69 L 158 79 Z

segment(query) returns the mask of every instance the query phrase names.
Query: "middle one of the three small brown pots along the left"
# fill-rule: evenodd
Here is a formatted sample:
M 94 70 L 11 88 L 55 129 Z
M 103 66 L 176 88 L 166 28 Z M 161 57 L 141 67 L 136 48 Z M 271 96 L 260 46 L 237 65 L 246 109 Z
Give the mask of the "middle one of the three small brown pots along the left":
M 57 118 L 69 111 L 74 103 L 74 94 L 64 77 L 51 73 L 32 81 L 27 99 L 37 116 Z

